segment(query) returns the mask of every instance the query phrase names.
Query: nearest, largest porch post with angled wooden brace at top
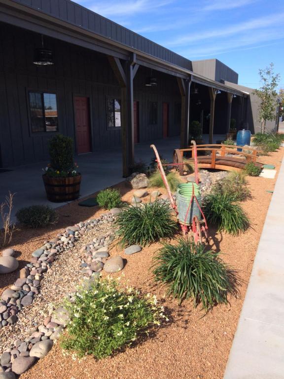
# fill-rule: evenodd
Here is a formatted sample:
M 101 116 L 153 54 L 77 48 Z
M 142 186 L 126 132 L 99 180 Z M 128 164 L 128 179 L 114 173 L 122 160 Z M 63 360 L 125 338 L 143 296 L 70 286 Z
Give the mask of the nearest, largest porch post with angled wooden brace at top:
M 129 175 L 129 167 L 134 163 L 133 68 L 135 63 L 127 61 L 123 69 L 118 58 L 108 56 L 108 61 L 121 86 L 122 175 L 126 178 Z M 135 73 L 137 69 L 138 67 Z

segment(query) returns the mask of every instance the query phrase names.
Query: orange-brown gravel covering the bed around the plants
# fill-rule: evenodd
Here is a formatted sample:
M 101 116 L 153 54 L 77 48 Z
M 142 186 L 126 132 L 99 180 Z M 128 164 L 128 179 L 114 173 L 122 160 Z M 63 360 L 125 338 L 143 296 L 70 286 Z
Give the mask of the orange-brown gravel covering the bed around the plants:
M 283 153 L 284 148 L 281 148 L 261 160 L 274 164 L 279 171 Z M 243 206 L 251 221 L 252 227 L 249 231 L 232 237 L 210 230 L 213 249 L 221 250 L 224 253 L 223 259 L 239 269 L 244 279 L 239 299 L 231 299 L 228 306 L 218 305 L 203 317 L 204 313 L 199 308 L 194 309 L 190 302 L 178 306 L 176 301 L 165 298 L 163 291 L 153 287 L 149 272 L 152 256 L 160 246 L 158 243 L 153 244 L 141 253 L 128 256 L 123 272 L 132 285 L 145 292 L 151 290 L 156 293 L 170 315 L 168 326 L 160 328 L 154 338 L 147 339 L 141 345 L 98 362 L 91 357 L 81 362 L 73 361 L 70 356 L 64 357 L 60 347 L 56 345 L 45 358 L 23 374 L 21 379 L 221 379 L 271 199 L 271 194 L 266 190 L 274 189 L 276 179 L 248 177 L 248 182 L 253 199 L 246 201 Z M 119 187 L 124 190 L 124 199 L 129 200 L 133 191 L 127 192 L 124 186 Z M 72 203 L 58 210 L 61 216 L 60 227 L 88 219 L 94 209 L 78 208 L 80 207 L 76 203 Z M 69 215 L 67 221 L 64 215 Z M 48 230 L 48 237 L 51 238 L 57 232 L 55 229 Z M 31 237 L 33 239 L 30 241 Z M 36 235 L 30 230 L 15 234 L 15 249 L 21 250 L 20 259 L 28 260 L 30 253 L 46 238 L 43 231 L 37 231 Z M 114 249 L 111 255 L 116 252 Z M 119 253 L 123 256 L 123 253 Z M 11 280 L 15 278 L 16 276 L 4 280 L 4 286 L 11 284 Z

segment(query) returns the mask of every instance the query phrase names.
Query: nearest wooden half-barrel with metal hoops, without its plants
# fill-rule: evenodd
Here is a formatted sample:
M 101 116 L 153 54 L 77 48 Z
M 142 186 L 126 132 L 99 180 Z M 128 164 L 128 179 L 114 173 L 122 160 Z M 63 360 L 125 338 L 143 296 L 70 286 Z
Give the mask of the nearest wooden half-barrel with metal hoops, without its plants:
M 46 196 L 53 203 L 76 200 L 80 195 L 81 175 L 68 178 L 50 178 L 42 175 Z

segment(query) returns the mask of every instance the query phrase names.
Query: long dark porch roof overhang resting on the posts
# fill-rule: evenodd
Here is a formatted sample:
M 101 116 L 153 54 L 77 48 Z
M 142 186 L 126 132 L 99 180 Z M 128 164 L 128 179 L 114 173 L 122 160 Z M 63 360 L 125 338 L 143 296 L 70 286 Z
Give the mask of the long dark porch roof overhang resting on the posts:
M 191 79 L 196 83 L 230 92 L 238 96 L 247 96 L 247 93 L 237 90 L 236 88 L 198 75 L 173 63 L 146 54 L 100 34 L 90 32 L 70 22 L 50 16 L 49 14 L 18 2 L 0 0 L 0 21 L 124 60 L 131 59 L 130 53 L 135 53 L 137 56 L 136 62 L 142 66 L 172 76 Z

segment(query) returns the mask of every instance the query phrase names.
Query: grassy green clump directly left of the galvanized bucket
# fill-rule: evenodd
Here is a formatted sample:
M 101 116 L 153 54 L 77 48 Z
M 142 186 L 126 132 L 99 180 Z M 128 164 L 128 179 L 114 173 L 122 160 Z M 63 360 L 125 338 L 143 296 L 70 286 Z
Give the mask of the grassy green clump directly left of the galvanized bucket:
M 122 246 L 145 246 L 160 238 L 173 237 L 177 231 L 177 222 L 169 205 L 157 201 L 142 207 L 131 205 L 122 209 L 117 215 L 116 225 Z

